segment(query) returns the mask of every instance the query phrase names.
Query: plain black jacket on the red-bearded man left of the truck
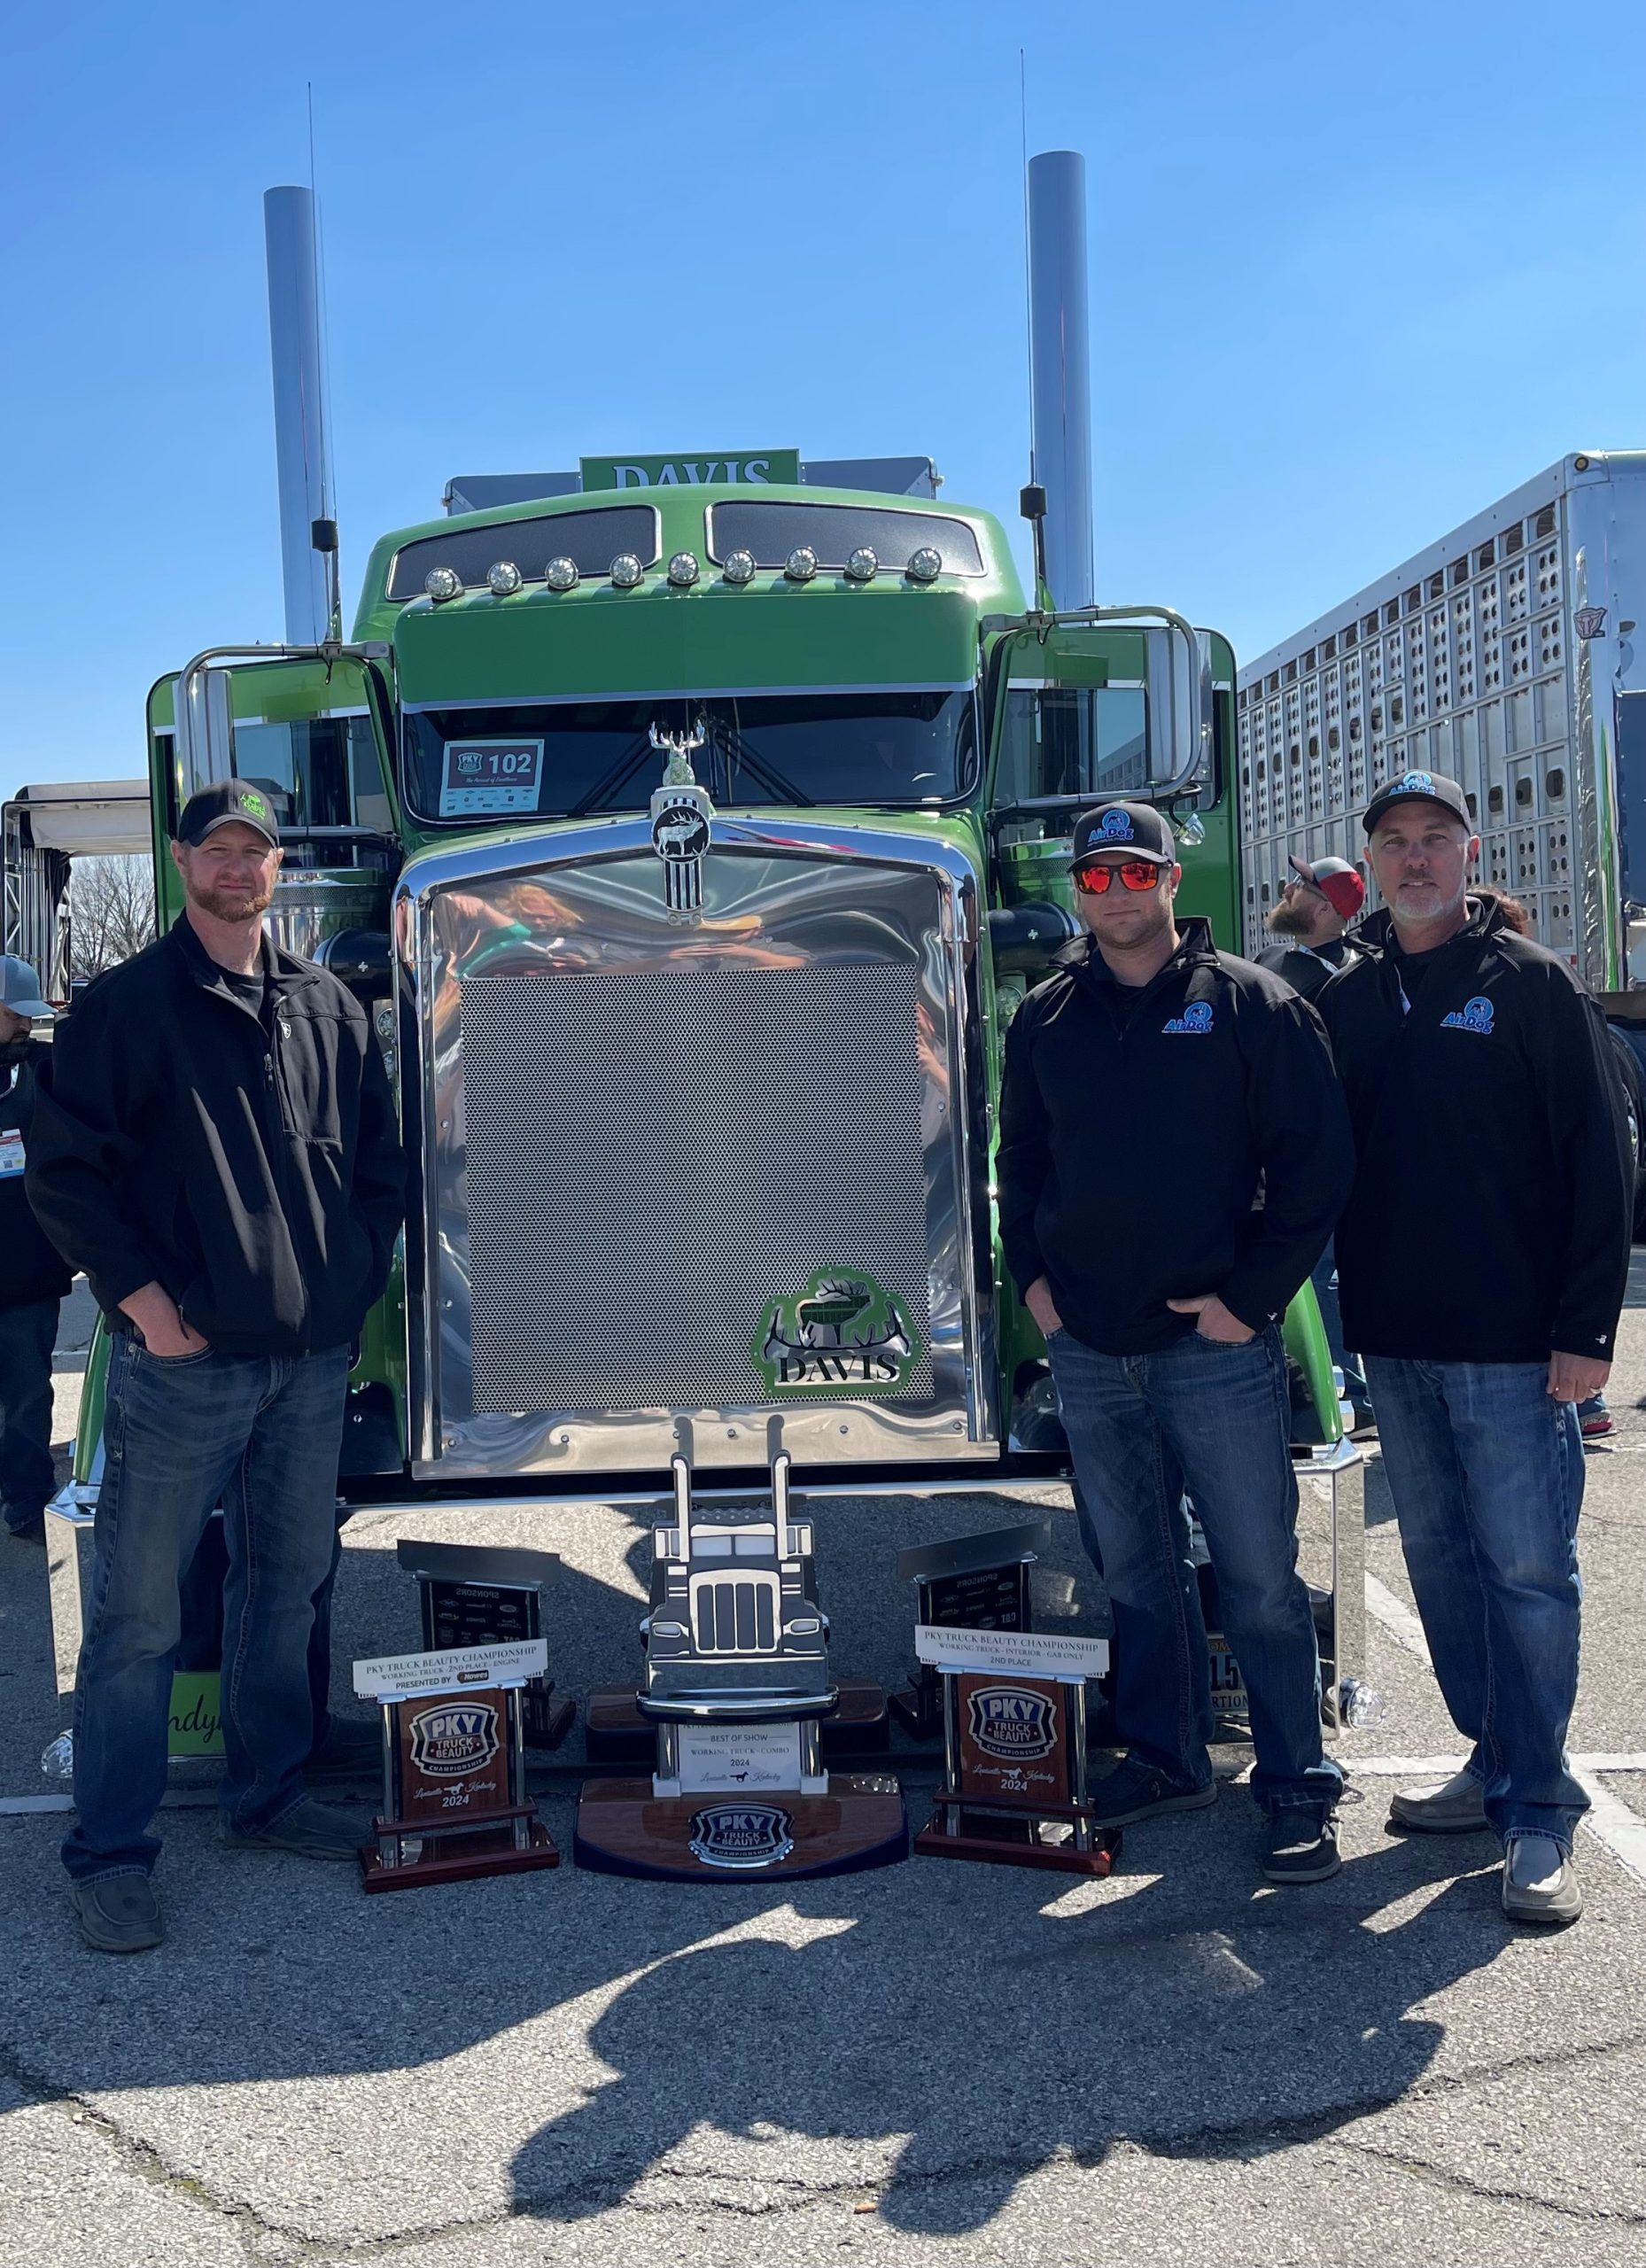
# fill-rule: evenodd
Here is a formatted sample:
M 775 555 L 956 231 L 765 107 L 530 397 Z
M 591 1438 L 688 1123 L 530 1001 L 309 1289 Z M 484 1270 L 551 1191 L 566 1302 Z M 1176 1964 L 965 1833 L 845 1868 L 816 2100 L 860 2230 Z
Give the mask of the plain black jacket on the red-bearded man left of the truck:
M 367 1014 L 268 941 L 263 973 L 268 1030 L 179 921 L 52 1043 L 29 1200 L 116 1329 L 159 1281 L 224 1354 L 308 1354 L 388 1281 L 404 1166 Z

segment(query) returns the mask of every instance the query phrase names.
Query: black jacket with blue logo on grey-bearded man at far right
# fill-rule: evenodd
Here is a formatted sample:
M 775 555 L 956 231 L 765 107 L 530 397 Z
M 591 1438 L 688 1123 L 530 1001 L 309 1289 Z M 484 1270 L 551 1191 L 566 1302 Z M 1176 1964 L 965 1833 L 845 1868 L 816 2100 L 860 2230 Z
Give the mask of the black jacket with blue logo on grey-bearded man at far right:
M 1635 1170 L 1601 1009 L 1480 900 L 1433 953 L 1401 953 L 1385 912 L 1358 943 L 1320 998 L 1358 1154 L 1338 1222 L 1344 1345 L 1610 1361 Z

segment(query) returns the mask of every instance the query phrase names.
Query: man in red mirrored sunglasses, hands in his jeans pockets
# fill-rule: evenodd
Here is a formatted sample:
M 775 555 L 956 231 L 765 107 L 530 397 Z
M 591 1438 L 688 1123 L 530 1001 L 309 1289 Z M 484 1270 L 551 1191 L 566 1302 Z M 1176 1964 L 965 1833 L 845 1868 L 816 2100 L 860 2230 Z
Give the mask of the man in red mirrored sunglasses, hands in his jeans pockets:
M 1161 812 L 1088 812 L 1072 866 L 1091 937 L 1011 1023 L 998 1177 L 1113 1603 L 1127 1755 L 1097 1819 L 1217 1794 L 1188 1483 L 1252 1694 L 1263 1873 L 1317 1882 L 1342 1780 L 1320 1742 L 1276 1318 L 1349 1186 L 1342 1095 L 1313 1007 L 1204 921 L 1174 923 Z

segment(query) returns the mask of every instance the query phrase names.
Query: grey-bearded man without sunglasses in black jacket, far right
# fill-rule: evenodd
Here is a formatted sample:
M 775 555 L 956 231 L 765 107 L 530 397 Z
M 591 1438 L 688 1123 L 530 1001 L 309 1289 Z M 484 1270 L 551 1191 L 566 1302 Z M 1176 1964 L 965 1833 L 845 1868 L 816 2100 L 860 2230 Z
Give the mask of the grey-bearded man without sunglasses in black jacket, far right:
M 1578 1687 L 1573 1404 L 1612 1361 L 1632 1163 L 1601 1012 L 1501 907 L 1467 896 L 1456 780 L 1408 771 L 1365 812 L 1388 912 L 1322 993 L 1356 1132 L 1338 1225 L 1435 1676 L 1467 1767 L 1392 1823 L 1503 1842 L 1515 1921 L 1580 1912 L 1587 1810 L 1564 1740 Z

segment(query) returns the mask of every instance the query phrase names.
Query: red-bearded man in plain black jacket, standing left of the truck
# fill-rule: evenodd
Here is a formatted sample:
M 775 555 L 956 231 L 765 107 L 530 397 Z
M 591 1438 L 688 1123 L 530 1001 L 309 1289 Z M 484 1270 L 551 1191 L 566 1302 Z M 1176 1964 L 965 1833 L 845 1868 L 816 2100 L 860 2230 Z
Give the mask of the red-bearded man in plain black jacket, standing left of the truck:
M 86 1944 L 161 1941 L 150 1835 L 166 1787 L 179 1583 L 222 1497 L 220 1837 L 351 1860 L 304 1792 L 306 1653 L 331 1572 L 349 1345 L 401 1218 L 394 1107 L 351 993 L 261 916 L 279 835 L 243 780 L 184 805 L 186 914 L 100 978 L 41 1082 L 27 1186 L 113 1329 L 97 1572 L 63 1844 Z

